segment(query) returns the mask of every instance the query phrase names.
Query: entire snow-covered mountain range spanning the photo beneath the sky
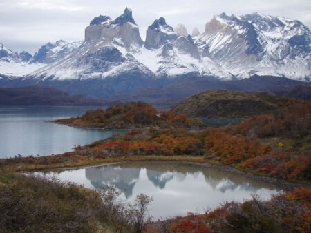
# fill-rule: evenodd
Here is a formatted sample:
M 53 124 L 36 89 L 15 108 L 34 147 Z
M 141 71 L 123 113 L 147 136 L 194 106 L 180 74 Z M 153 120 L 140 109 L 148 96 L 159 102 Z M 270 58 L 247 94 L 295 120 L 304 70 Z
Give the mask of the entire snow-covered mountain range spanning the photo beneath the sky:
M 217 15 L 205 32 L 156 19 L 142 40 L 129 8 L 95 17 L 82 42 L 57 41 L 32 56 L 0 43 L 0 85 L 41 85 L 113 97 L 187 80 L 234 82 L 254 76 L 311 81 L 311 32 L 303 23 L 253 13 Z M 208 85 L 207 85 L 208 86 Z M 147 88 L 147 89 L 146 89 Z

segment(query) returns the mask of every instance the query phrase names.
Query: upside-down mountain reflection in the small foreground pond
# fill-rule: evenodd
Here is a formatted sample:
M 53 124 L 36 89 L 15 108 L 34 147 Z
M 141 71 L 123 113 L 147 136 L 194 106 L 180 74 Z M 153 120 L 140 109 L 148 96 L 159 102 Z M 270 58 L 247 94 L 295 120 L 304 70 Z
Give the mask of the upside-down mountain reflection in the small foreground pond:
M 209 187 L 221 193 L 227 190 L 243 190 L 256 192 L 265 188 L 273 189 L 273 185 L 259 181 L 252 182 L 244 176 L 230 174 L 228 172 L 208 169 L 198 165 L 185 163 L 122 163 L 118 165 L 105 165 L 85 169 L 85 176 L 93 185 L 93 188 L 102 188 L 114 185 L 124 193 L 126 199 L 133 195 L 133 188 L 140 180 L 140 176 L 146 176 L 156 188 L 161 190 L 165 185 L 176 178 L 176 182 L 182 183 L 187 176 L 204 176 L 205 183 Z

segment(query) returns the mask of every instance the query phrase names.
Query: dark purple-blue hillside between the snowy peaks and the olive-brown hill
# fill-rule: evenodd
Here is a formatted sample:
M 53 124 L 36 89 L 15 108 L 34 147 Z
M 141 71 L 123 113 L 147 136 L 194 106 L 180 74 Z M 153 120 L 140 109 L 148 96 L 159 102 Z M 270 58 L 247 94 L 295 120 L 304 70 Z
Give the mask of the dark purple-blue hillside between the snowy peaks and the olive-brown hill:
M 138 91 L 129 94 L 120 94 L 112 97 L 105 97 L 110 101 L 144 101 L 160 105 L 176 105 L 180 101 L 187 99 L 194 94 L 205 92 L 207 90 L 236 90 L 247 92 L 269 92 L 279 96 L 279 93 L 274 93 L 274 90 L 284 90 L 296 85 L 301 85 L 299 81 L 287 79 L 285 77 L 274 76 L 258 76 L 254 75 L 249 79 L 220 81 L 214 77 L 194 77 L 180 79 L 172 83 L 160 85 L 153 88 L 142 88 Z M 308 84 L 308 83 L 307 83 Z M 282 96 L 287 96 L 288 93 L 283 93 Z M 294 96 L 293 96 L 294 97 Z M 295 98 L 298 98 L 296 96 Z M 298 98 L 299 99 L 299 98 Z

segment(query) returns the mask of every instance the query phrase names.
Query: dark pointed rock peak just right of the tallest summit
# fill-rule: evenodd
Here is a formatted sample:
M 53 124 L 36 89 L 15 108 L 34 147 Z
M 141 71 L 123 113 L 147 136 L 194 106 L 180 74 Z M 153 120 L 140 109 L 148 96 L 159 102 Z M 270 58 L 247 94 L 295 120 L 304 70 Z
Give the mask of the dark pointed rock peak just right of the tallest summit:
M 164 45 L 165 41 L 175 41 L 179 35 L 174 32 L 173 27 L 169 26 L 163 17 L 156 19 L 148 27 L 144 47 L 156 49 Z

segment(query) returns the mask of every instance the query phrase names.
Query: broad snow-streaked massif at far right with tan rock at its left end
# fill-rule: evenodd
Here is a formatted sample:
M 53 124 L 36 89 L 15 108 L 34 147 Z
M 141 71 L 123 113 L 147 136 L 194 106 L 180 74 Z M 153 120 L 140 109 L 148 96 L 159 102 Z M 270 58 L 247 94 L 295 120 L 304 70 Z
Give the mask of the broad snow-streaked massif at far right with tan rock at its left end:
M 311 32 L 299 21 L 223 13 L 196 38 L 206 41 L 211 58 L 239 79 L 258 74 L 310 81 Z

